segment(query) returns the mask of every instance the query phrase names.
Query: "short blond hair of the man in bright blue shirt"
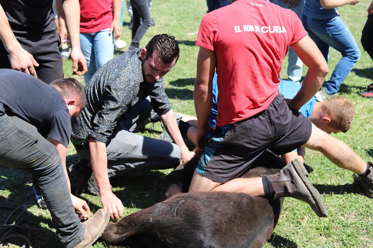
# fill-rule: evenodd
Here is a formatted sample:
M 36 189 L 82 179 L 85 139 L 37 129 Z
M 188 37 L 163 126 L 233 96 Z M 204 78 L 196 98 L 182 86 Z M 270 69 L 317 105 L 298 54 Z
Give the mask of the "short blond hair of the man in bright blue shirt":
M 321 110 L 332 118 L 330 125 L 337 130 L 347 132 L 354 121 L 354 105 L 343 96 L 336 96 L 321 102 Z

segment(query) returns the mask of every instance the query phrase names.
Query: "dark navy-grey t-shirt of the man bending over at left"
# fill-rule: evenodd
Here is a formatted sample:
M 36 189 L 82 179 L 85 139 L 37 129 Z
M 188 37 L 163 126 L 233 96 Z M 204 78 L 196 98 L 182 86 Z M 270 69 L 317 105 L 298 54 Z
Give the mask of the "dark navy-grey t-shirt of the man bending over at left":
M 59 91 L 48 84 L 26 73 L 0 69 L 0 114 L 2 109 L 35 126 L 44 138 L 68 146 L 69 110 Z

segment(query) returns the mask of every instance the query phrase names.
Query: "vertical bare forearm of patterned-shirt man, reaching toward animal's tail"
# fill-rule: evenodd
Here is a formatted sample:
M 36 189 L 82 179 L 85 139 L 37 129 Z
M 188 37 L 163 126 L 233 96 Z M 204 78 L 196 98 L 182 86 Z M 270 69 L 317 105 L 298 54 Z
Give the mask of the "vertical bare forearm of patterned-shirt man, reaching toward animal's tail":
M 101 194 L 111 192 L 109 175 L 107 174 L 106 144 L 94 139 L 88 141 L 90 147 L 91 165 L 96 179 L 98 191 Z

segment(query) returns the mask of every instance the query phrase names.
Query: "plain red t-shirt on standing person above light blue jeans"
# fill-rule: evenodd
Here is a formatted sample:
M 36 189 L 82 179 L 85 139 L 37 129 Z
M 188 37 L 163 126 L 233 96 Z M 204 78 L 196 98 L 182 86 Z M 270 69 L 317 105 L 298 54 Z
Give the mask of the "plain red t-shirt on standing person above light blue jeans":
M 113 22 L 111 0 L 79 0 L 80 32 L 94 33 L 110 28 Z

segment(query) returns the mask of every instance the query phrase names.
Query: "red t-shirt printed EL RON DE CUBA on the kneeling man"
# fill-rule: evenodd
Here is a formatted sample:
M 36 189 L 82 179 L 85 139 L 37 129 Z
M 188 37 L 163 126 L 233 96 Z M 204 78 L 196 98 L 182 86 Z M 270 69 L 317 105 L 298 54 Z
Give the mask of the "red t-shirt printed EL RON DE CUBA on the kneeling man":
M 217 126 L 267 109 L 289 45 L 306 35 L 294 12 L 263 0 L 235 1 L 203 17 L 195 44 L 216 53 Z

